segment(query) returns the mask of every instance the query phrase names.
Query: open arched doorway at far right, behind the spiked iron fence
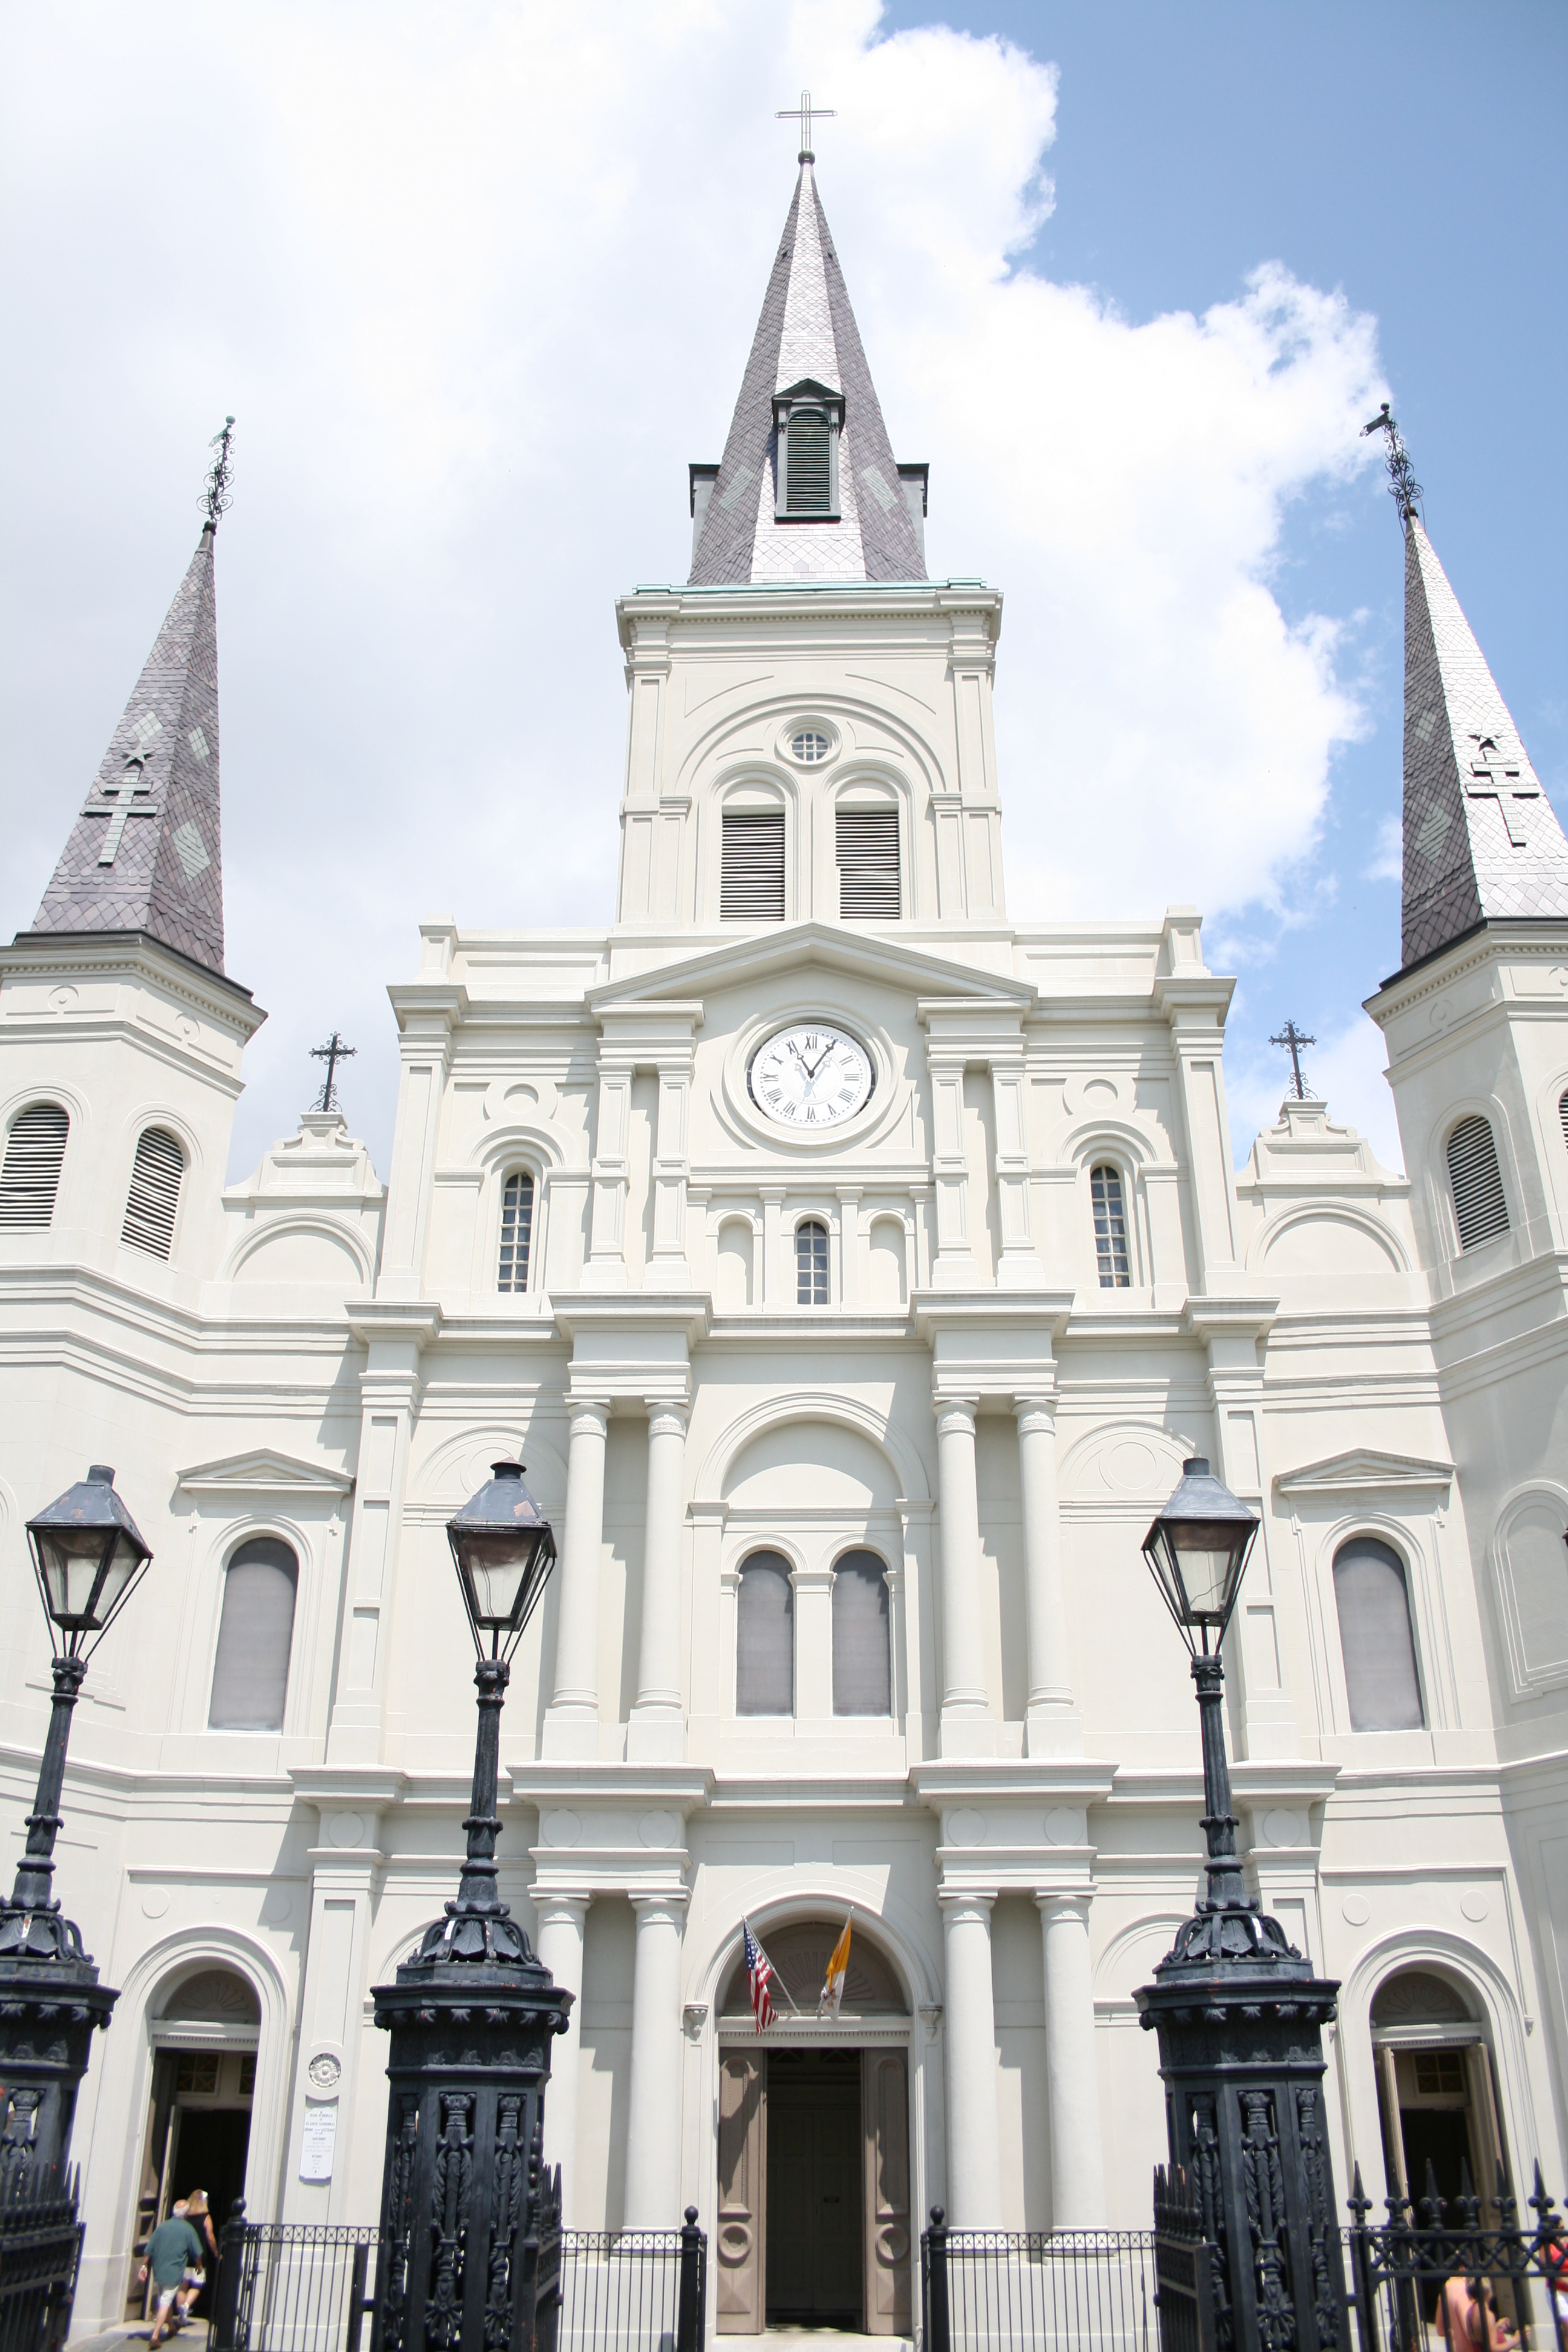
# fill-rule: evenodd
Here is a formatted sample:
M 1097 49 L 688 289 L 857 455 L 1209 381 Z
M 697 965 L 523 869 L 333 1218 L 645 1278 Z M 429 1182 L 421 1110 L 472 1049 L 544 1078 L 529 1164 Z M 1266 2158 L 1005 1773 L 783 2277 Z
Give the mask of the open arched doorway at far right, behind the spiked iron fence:
M 1502 2131 L 1486 2030 L 1469 1997 L 1434 1969 L 1401 1969 L 1373 1994 L 1373 2058 L 1389 2190 L 1460 2194 L 1469 2171 L 1493 2218 Z

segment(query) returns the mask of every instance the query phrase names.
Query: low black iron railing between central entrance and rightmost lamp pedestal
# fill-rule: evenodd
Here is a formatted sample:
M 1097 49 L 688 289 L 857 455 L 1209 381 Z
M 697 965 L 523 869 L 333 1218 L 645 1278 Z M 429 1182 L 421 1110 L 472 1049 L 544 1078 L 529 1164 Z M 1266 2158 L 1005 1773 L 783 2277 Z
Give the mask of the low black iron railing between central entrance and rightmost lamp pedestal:
M 919 2239 L 924 2352 L 1154 2352 L 1152 2230 L 950 2230 Z

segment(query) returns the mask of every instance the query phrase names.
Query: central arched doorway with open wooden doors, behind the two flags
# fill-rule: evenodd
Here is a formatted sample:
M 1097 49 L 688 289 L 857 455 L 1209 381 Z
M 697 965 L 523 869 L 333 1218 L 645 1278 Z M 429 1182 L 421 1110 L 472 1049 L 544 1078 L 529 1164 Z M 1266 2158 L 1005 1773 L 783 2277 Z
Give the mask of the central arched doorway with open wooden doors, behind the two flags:
M 839 2016 L 818 2018 L 842 1929 L 839 1917 L 762 1931 L 778 1987 L 766 2034 L 745 1957 L 719 2002 L 722 2336 L 910 2333 L 907 1999 L 856 1919 Z

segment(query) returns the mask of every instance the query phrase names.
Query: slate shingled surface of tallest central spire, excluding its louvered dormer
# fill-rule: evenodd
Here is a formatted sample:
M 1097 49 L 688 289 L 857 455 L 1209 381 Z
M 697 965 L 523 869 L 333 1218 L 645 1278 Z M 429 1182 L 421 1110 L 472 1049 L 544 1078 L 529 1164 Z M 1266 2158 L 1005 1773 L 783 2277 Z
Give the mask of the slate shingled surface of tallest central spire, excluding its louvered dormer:
M 773 520 L 778 456 L 773 393 L 804 379 L 844 397 L 837 522 Z M 926 564 L 816 193 L 811 158 L 802 155 L 795 202 L 691 562 L 691 586 L 790 579 L 924 581 L 924 576 Z

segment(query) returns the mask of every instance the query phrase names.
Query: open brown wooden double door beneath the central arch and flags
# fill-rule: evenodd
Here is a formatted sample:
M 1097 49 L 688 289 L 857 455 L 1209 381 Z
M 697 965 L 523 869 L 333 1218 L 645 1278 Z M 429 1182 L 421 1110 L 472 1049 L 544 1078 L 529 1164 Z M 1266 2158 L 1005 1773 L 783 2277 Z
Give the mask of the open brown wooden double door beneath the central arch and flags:
M 910 2333 L 910 2072 L 903 2049 L 719 2058 L 722 2336 Z

